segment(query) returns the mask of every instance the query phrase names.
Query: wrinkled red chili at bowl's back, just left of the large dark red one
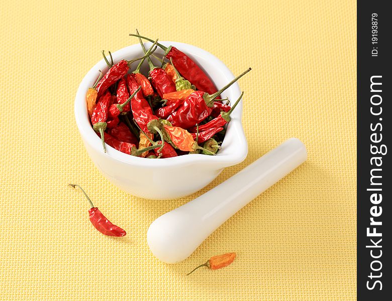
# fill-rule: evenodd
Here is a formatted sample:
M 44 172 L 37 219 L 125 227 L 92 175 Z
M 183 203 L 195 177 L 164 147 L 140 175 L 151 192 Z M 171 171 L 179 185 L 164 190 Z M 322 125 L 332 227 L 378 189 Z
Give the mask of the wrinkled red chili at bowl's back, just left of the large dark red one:
M 146 53 L 146 48 L 141 39 L 139 39 L 140 45 L 144 53 Z M 162 97 L 163 94 L 177 91 L 175 88 L 175 84 L 172 82 L 170 77 L 167 75 L 165 70 L 154 66 L 151 59 L 147 57 L 148 66 L 150 67 L 150 71 L 148 75 L 151 77 L 151 84 L 154 89 L 158 92 L 159 96 Z

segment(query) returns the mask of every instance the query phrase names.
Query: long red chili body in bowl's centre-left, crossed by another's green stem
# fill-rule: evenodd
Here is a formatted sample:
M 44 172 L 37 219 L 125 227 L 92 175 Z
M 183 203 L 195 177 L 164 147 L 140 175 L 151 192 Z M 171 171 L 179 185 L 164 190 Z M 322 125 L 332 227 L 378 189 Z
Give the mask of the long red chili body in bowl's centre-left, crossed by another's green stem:
M 139 88 L 138 83 L 131 76 L 127 77 L 127 84 L 130 93 L 134 93 Z M 131 99 L 131 109 L 136 123 L 144 131 L 148 131 L 147 123 L 149 121 L 153 119 L 158 119 L 158 117 L 155 116 L 154 113 L 152 112 L 152 109 L 148 104 L 147 100 L 143 97 L 142 91 L 138 91 L 135 94 L 135 96 Z

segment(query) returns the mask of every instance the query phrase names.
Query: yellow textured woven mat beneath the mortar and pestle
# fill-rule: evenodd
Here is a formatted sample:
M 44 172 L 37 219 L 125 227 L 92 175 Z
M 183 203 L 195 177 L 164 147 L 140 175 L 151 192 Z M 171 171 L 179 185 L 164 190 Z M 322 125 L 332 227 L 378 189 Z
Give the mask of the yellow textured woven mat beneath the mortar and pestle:
M 151 201 L 109 183 L 73 115 L 101 50 L 149 37 L 206 49 L 240 80 L 245 162 L 187 198 Z M 0 299 L 353 300 L 356 297 L 355 1 L 3 1 L 0 92 Z M 289 137 L 308 161 L 257 197 L 187 260 L 169 265 L 146 232 L 161 214 Z M 105 237 L 69 182 L 124 227 Z M 201 269 L 237 252 L 226 268 Z

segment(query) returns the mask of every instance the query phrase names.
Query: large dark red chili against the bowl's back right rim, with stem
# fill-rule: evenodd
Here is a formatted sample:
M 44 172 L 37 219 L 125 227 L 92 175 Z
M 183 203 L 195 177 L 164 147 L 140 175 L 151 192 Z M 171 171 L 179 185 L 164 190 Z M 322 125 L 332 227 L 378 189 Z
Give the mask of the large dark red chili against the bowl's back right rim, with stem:
M 139 34 L 130 34 L 130 36 L 153 42 L 153 40 L 140 36 Z M 157 43 L 157 45 L 163 49 L 166 58 L 171 58 L 173 60 L 174 67 L 177 68 L 182 76 L 195 85 L 198 90 L 205 91 L 209 94 L 214 94 L 217 92 L 217 88 L 208 75 L 186 54 L 174 46 L 166 47 L 160 43 Z

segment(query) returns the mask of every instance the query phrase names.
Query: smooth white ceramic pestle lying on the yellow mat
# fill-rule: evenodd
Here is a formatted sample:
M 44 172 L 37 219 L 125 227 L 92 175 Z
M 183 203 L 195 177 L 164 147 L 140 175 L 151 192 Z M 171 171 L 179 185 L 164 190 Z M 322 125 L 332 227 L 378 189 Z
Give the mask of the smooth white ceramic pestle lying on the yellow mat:
M 186 259 L 219 226 L 307 159 L 304 143 L 290 138 L 222 184 L 150 225 L 147 242 L 161 261 Z

